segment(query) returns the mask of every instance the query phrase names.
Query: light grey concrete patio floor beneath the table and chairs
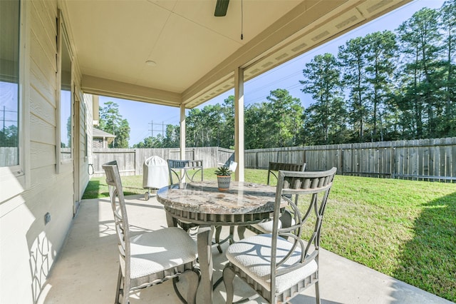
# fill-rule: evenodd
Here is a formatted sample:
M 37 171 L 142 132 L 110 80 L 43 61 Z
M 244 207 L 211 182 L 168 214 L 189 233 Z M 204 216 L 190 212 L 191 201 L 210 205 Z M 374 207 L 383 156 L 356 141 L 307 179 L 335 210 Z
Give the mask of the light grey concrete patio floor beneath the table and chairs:
M 154 196 L 145 201 L 143 196 L 127 196 L 130 229 L 135 232 L 166 227 L 165 211 Z M 53 265 L 38 303 L 114 303 L 118 275 L 117 240 L 113 230 L 113 214 L 108 198 L 83 200 L 73 226 L 68 233 L 58 260 Z M 227 233 L 228 228 L 224 228 Z M 222 245 L 225 250 L 227 244 Z M 220 278 L 226 259 L 224 254 L 212 251 L 214 281 Z M 185 278 L 182 290 L 185 288 Z M 234 300 L 255 295 L 249 286 L 236 280 Z M 452 303 L 427 293 L 388 275 L 383 275 L 327 250 L 320 257 L 321 303 Z M 290 303 L 315 303 L 314 287 L 297 296 Z M 214 304 L 224 303 L 223 283 L 214 291 Z M 199 290 L 197 303 L 201 303 Z M 138 291 L 130 296 L 131 304 L 175 304 L 172 282 Z M 266 303 L 253 298 L 245 303 Z

